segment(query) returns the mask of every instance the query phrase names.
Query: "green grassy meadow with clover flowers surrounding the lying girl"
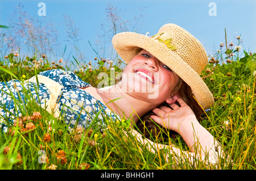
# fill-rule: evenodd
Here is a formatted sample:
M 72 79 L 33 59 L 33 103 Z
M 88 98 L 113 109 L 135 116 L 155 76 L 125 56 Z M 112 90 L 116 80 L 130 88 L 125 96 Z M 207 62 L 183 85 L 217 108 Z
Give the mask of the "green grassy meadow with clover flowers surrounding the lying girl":
M 4 27 L 3 27 L 4 28 Z M 186 160 L 167 161 L 168 150 L 151 153 L 127 132 L 130 120 L 112 121 L 104 117 L 108 129 L 97 127 L 96 116 L 88 128 L 69 129 L 61 116 L 53 117 L 38 106 L 35 100 L 19 102 L 22 115 L 15 124 L 1 132 L 0 169 L 77 170 L 77 169 L 256 169 L 256 103 L 255 76 L 256 53 L 242 52 L 241 37 L 237 44 L 220 43 L 216 53 L 209 56 L 207 68 L 201 77 L 213 93 L 215 104 L 202 116 L 201 124 L 216 138 L 232 160 L 220 159 L 215 165 Z M 64 54 L 64 53 L 63 53 Z M 93 57 L 85 62 L 73 56 L 69 63 L 62 58 L 51 58 L 39 51 L 20 57 L 19 52 L 9 52 L 0 58 L 0 81 L 19 79 L 25 81 L 41 71 L 63 69 L 75 72 L 83 81 L 97 87 L 101 72 L 110 75 L 123 70 L 125 64 L 118 57 L 106 60 Z M 76 67 L 76 69 L 72 68 Z M 110 76 L 109 76 L 110 77 Z M 109 79 L 112 83 L 113 79 Z M 0 123 L 8 123 L 8 116 L 1 116 Z M 161 137 L 161 135 L 159 135 Z M 158 139 L 153 140 L 158 142 Z M 183 139 L 176 135 L 164 140 L 184 151 L 189 151 Z

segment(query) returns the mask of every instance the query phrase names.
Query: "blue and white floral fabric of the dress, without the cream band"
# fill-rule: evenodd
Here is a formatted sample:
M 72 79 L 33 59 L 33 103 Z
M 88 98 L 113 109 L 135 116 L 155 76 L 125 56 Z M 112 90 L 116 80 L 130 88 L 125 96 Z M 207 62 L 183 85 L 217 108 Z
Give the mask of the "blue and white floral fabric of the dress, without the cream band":
M 88 127 L 98 112 L 100 112 L 98 113 L 98 120 L 102 120 L 102 125 L 105 123 L 104 119 L 119 119 L 119 116 L 110 111 L 102 102 L 88 94 L 86 89 L 80 89 L 90 85 L 82 81 L 75 73 L 53 69 L 39 74 L 63 86 L 56 106 L 61 119 L 69 128 L 73 128 L 75 124 Z M 8 125 L 12 124 L 16 117 L 26 115 L 24 108 L 26 102 L 34 99 L 37 104 L 43 106 L 50 94 L 51 92 L 43 83 L 22 83 L 18 80 L 0 82 L 0 128 L 6 132 Z

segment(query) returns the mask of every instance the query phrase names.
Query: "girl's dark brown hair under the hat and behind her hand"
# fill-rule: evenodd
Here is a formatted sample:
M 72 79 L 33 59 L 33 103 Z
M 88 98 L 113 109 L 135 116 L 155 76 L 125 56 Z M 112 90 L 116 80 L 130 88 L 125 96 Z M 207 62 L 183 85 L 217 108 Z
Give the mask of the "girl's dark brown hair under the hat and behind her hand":
M 173 92 L 174 94 L 177 93 L 179 97 L 183 99 L 189 107 L 191 107 L 191 110 L 196 115 L 196 119 L 200 120 L 200 116 L 204 113 L 204 110 L 199 106 L 197 100 L 193 97 L 192 90 L 187 85 L 187 83 L 180 79 Z M 179 103 L 176 104 L 179 105 Z M 169 107 L 166 102 L 160 104 L 160 106 Z M 161 125 L 155 123 L 155 121 L 150 119 L 151 115 L 155 115 L 155 113 L 149 111 L 141 117 L 141 120 L 137 121 L 137 127 L 144 137 L 152 141 L 158 140 L 159 142 L 164 142 L 165 138 L 167 138 L 168 136 L 172 138 L 176 136 L 176 132 L 171 131 L 167 128 L 163 128 Z

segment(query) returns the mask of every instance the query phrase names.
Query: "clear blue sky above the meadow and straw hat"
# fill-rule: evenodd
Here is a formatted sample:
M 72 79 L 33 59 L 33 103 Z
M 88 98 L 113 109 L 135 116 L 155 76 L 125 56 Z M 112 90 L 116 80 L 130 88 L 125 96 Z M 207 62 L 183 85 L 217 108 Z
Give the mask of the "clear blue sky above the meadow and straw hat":
M 219 49 L 220 42 L 225 42 L 225 28 L 228 43 L 236 44 L 236 36 L 241 35 L 242 50 L 256 52 L 256 1 L 152 1 L 152 0 L 129 0 L 129 1 L 82 1 L 82 0 L 31 0 L 15 1 L 1 0 L 0 24 L 6 24 L 7 17 L 14 11 L 19 2 L 24 5 L 24 10 L 38 19 L 51 19 L 59 26 L 60 42 L 65 44 L 63 15 L 69 15 L 81 32 L 79 41 L 80 49 L 88 59 L 93 59 L 95 53 L 93 47 L 97 46 L 96 37 L 102 33 L 101 23 L 106 22 L 105 9 L 109 3 L 122 10 L 123 18 L 133 19 L 139 15 L 139 9 L 143 9 L 141 19 L 142 26 L 139 33 L 149 36 L 158 32 L 159 28 L 166 23 L 175 23 L 200 40 L 208 55 Z M 39 2 L 46 3 L 46 16 L 38 16 Z M 209 3 L 216 4 L 216 16 L 210 16 Z M 108 58 L 108 57 L 105 57 Z

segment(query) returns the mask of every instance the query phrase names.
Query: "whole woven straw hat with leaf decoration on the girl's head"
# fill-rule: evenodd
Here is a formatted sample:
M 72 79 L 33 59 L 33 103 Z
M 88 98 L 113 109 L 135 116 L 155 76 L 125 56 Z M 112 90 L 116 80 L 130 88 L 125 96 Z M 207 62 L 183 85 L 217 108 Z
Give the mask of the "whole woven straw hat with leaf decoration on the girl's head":
M 199 40 L 183 28 L 176 24 L 166 24 L 152 37 L 122 32 L 113 37 L 112 43 L 127 63 L 141 49 L 147 50 L 191 87 L 195 98 L 205 110 L 214 104 L 212 93 L 200 77 L 208 63 L 207 53 Z

